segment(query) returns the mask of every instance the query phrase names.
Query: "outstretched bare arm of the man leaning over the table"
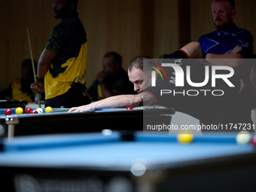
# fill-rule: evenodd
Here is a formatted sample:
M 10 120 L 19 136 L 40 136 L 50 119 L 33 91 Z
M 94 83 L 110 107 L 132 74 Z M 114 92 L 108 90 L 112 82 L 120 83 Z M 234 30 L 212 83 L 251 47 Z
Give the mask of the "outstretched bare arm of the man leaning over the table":
M 98 102 L 92 102 L 89 105 L 71 108 L 69 112 L 95 111 L 100 108 L 136 108 L 143 105 L 154 105 L 154 102 L 154 97 L 148 93 L 111 96 Z

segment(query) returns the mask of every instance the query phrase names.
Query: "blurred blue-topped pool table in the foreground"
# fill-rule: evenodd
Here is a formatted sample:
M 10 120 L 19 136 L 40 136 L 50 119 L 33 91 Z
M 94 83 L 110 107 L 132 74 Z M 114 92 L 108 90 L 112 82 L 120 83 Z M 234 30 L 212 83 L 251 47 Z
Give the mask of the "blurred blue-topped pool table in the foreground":
M 0 151 L 8 191 L 255 191 L 256 151 L 236 135 L 118 132 L 17 136 Z

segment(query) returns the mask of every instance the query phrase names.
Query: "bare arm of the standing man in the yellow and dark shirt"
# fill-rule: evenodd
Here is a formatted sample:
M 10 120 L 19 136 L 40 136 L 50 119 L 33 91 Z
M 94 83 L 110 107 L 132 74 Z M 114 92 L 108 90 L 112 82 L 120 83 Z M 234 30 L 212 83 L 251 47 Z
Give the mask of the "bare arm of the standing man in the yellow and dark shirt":
M 41 53 L 41 56 L 38 60 L 38 78 L 44 78 L 44 75 L 47 73 L 50 68 L 50 64 L 53 59 L 56 57 L 56 53 L 53 53 L 50 50 L 44 49 Z

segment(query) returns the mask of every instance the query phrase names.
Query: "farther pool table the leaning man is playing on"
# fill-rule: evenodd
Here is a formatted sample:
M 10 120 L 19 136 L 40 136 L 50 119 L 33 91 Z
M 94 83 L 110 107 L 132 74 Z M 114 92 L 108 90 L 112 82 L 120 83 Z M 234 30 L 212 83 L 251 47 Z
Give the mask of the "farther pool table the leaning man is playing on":
M 134 130 L 143 130 L 146 124 L 170 124 L 173 108 L 104 108 L 96 111 L 59 111 L 44 114 L 3 115 L 0 109 L 2 137 L 28 136 L 50 133 L 90 133 L 104 129 L 122 130 L 123 139 L 133 139 Z M 15 108 L 12 109 L 15 111 Z M 53 108 L 58 110 L 58 108 Z

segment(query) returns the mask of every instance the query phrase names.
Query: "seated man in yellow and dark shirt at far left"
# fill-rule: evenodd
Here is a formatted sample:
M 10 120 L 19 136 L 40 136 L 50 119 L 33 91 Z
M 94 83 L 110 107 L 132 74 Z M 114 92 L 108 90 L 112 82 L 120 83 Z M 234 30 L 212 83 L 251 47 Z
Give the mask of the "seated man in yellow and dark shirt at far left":
M 34 63 L 36 67 L 37 63 Z M 8 88 L 1 91 L 0 99 L 35 102 L 35 94 L 30 89 L 30 85 L 35 81 L 31 59 L 26 59 L 21 64 L 21 75 L 22 77 L 15 78 Z

